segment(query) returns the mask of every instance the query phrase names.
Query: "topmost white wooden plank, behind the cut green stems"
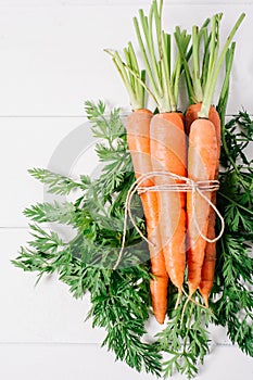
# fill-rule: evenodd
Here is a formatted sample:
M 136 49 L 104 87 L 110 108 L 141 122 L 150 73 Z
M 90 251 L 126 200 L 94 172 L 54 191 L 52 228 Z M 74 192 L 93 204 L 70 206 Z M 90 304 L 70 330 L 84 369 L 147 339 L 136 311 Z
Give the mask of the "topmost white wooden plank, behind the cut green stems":
M 4 7 L 0 12 L 0 115 L 83 115 L 84 100 L 104 99 L 129 109 L 119 77 L 104 48 L 122 49 L 134 39 L 138 7 L 53 2 L 50 7 Z M 188 8 L 186 8 L 188 7 Z M 148 8 L 148 7 L 147 7 Z M 166 4 L 164 25 L 190 27 L 224 12 L 224 31 L 244 11 L 232 72 L 229 113 L 251 102 L 253 5 L 231 3 Z M 179 17 L 180 15 L 180 17 Z M 11 73 L 11 75 L 7 75 Z M 24 96 L 25 93 L 25 96 Z

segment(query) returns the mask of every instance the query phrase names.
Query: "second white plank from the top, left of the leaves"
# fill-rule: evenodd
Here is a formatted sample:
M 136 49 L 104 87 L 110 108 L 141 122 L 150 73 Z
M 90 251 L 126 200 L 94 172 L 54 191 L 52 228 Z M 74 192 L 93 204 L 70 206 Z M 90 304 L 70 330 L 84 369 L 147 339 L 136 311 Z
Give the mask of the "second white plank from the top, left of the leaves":
M 0 227 L 26 226 L 23 210 L 36 202 L 59 199 L 28 175 L 33 167 L 49 168 L 77 178 L 97 167 L 90 124 L 84 117 L 2 118 L 0 140 L 2 202 Z

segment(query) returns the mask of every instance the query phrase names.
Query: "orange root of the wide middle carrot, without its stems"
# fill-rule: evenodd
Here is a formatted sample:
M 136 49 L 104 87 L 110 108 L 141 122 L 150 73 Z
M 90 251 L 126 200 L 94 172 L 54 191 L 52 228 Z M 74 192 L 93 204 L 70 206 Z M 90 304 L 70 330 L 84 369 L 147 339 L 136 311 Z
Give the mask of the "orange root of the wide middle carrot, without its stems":
M 170 172 L 187 176 L 187 147 L 182 115 L 176 112 L 153 116 L 150 127 L 151 159 L 155 172 Z M 180 181 L 168 177 L 155 177 L 155 185 Z M 182 291 L 186 268 L 186 193 L 161 191 L 160 230 L 169 279 Z

